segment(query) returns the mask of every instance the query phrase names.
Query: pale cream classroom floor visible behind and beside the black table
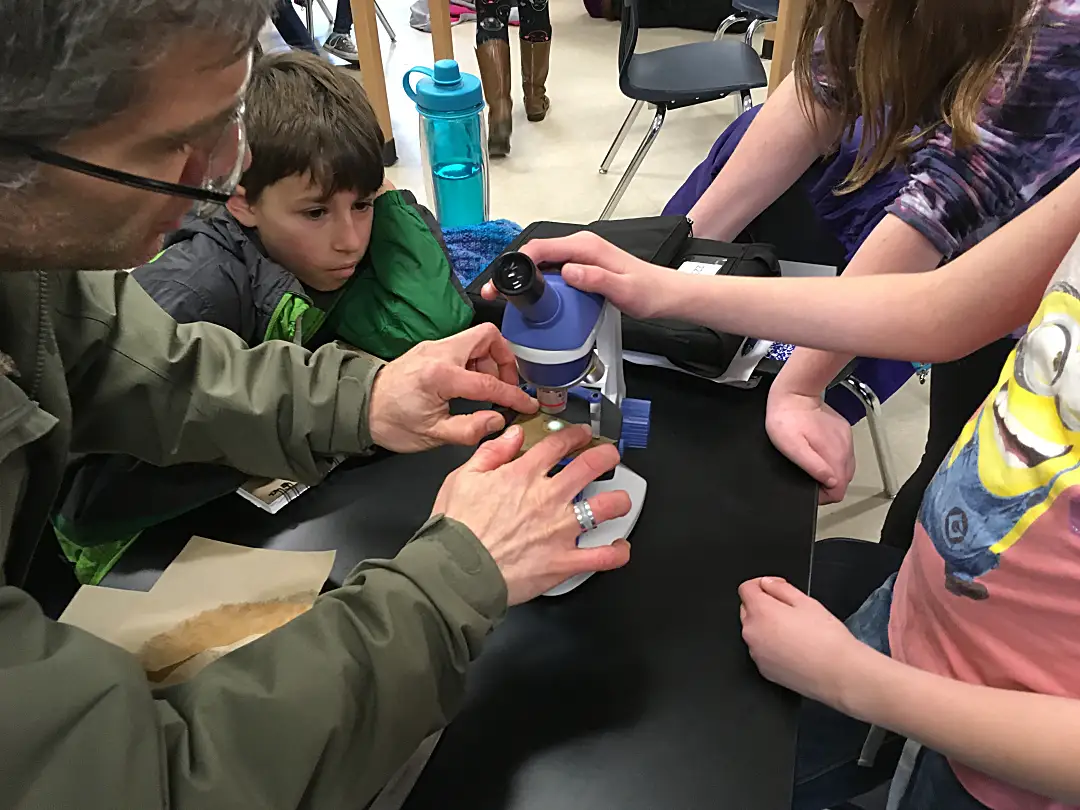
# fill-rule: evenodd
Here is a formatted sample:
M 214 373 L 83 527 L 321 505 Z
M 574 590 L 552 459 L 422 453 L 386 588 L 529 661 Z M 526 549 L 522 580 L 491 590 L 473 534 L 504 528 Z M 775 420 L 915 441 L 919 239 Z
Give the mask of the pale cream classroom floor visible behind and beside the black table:
M 400 160 L 390 178 L 418 197 L 424 195 L 420 172 L 416 110 L 401 86 L 401 77 L 415 65 L 430 65 L 431 39 L 408 26 L 407 0 L 380 0 L 397 33 L 390 44 L 380 31 L 391 117 Z M 515 90 L 513 150 L 492 162 L 491 214 L 522 225 L 536 219 L 586 222 L 595 219 L 619 181 L 651 116 L 643 111 L 616 159 L 611 173 L 597 168 L 616 131 L 630 109 L 618 86 L 616 54 L 619 26 L 591 19 L 577 0 L 552 3 L 551 76 L 548 93 L 552 111 L 541 123 L 528 123 Z M 320 23 L 323 24 L 322 22 Z M 454 45 L 462 69 L 476 73 L 474 24 L 454 29 Z M 320 30 L 325 33 L 325 30 Z M 674 29 L 642 31 L 638 50 L 710 39 L 706 32 Z M 516 44 L 514 46 L 516 54 Z M 517 75 L 517 68 L 514 68 Z M 756 94 L 764 100 L 764 91 Z M 734 118 L 738 100 L 721 99 L 677 110 L 667 117 L 660 137 L 630 187 L 619 216 L 657 214 L 713 140 Z M 918 462 L 927 429 L 928 388 L 912 381 L 885 404 L 896 474 L 903 481 Z M 888 503 L 869 435 L 855 429 L 859 470 L 848 498 L 822 510 L 819 537 L 849 536 L 877 539 Z

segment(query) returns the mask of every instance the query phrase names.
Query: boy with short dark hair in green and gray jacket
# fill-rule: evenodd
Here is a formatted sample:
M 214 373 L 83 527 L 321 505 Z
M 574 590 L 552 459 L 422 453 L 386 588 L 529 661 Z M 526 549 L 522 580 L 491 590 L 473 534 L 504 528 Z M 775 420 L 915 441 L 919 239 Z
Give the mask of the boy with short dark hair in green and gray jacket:
M 188 217 L 133 273 L 165 311 L 249 346 L 340 339 L 386 360 L 469 325 L 434 217 L 384 178 L 382 132 L 355 80 L 303 52 L 267 56 L 244 121 L 252 163 L 227 211 Z M 246 480 L 92 456 L 69 469 L 53 524 L 79 579 L 96 582 L 141 530 Z

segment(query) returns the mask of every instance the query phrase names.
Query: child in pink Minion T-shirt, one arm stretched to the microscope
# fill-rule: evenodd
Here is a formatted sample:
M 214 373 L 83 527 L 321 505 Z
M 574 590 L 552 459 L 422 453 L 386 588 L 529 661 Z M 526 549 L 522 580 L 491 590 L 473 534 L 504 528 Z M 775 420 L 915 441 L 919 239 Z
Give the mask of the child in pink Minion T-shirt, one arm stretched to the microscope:
M 765 677 L 907 738 L 890 810 L 1080 808 L 1080 173 L 927 273 L 691 276 L 589 235 L 524 249 L 632 315 L 848 355 L 947 362 L 1026 326 L 899 573 L 842 622 L 783 580 L 744 582 L 743 638 Z M 827 406 L 806 408 L 789 416 L 838 486 L 847 448 Z M 793 808 L 865 792 L 865 726 L 804 716 Z

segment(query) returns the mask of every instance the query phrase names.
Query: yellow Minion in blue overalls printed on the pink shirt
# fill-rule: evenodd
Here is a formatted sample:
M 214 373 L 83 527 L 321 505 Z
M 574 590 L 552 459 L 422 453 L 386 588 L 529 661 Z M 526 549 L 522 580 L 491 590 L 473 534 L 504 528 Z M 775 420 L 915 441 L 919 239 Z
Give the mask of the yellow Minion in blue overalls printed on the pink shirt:
M 993 391 L 934 475 L 919 513 L 945 586 L 986 599 L 980 579 L 1080 484 L 1080 291 L 1051 285 Z

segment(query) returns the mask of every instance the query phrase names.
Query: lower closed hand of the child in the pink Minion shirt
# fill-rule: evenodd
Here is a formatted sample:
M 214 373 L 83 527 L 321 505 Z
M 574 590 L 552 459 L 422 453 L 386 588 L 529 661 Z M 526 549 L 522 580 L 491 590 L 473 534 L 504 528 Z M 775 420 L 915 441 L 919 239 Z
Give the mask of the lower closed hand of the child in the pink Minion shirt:
M 762 577 L 739 586 L 743 640 L 769 680 L 841 708 L 861 661 L 879 654 L 788 582 Z

